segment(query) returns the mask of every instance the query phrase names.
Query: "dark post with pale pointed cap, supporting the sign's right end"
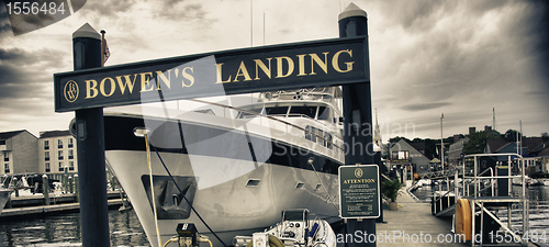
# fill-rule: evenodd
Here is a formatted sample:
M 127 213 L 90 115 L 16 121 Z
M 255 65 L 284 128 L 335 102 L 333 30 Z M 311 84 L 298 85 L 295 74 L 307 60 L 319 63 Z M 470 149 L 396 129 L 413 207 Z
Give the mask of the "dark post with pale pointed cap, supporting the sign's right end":
M 368 52 L 368 18 L 363 10 L 350 3 L 339 14 L 339 37 L 356 37 L 363 35 L 367 36 L 365 64 L 367 80 L 363 83 L 343 86 L 344 142 L 346 147 L 345 165 L 374 164 L 370 56 Z M 357 231 L 360 231 L 361 235 L 376 235 L 376 220 L 348 220 L 346 227 L 347 234 L 355 235 Z M 365 240 L 365 243 L 347 243 L 347 247 L 350 246 L 374 247 L 376 242 L 369 243 Z

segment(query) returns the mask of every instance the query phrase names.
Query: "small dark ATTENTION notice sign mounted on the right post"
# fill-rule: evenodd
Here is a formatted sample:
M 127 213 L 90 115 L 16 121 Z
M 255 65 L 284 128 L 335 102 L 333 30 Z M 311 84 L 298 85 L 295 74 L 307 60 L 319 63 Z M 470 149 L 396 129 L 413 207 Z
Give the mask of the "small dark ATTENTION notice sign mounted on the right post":
M 339 216 L 343 218 L 377 218 L 381 205 L 377 165 L 339 167 Z

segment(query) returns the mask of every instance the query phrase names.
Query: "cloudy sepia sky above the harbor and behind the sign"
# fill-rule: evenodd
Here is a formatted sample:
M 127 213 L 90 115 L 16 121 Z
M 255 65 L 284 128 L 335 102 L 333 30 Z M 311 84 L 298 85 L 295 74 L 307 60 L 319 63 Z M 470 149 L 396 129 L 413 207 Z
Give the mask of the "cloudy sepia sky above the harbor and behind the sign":
M 493 108 L 500 132 L 517 130 L 520 120 L 528 136 L 549 132 L 547 1 L 354 2 L 368 13 L 372 108 L 383 141 L 439 138 L 441 113 L 445 136 L 483 128 L 492 125 Z M 68 127 L 74 113 L 54 112 L 53 74 L 72 70 L 71 34 L 87 22 L 107 31 L 110 66 L 334 38 L 338 14 L 349 3 L 88 0 L 72 15 L 16 36 L 2 4 L 0 132 L 37 136 Z M 30 29 L 47 22 L 19 21 Z

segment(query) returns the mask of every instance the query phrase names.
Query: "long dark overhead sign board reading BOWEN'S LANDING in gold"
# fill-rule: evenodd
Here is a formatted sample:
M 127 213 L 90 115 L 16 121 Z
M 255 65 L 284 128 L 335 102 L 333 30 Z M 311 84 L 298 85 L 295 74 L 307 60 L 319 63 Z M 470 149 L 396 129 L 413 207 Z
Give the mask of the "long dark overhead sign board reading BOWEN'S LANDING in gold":
M 369 82 L 368 57 L 362 36 L 60 72 L 55 111 Z

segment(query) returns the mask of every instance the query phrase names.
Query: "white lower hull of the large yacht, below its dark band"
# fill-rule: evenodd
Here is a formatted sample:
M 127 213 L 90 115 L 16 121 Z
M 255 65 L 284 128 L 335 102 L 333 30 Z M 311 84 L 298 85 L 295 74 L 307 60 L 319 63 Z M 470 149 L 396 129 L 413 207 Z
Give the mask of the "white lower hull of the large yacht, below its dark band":
M 175 178 L 194 178 L 192 166 L 189 162 L 188 155 L 173 153 L 158 153 L 166 168 L 164 168 L 156 153 L 152 154 L 153 179 L 161 180 L 159 183 L 169 184 L 167 180 Z M 150 184 L 148 182 L 149 171 L 147 165 L 147 155 L 145 151 L 136 150 L 108 150 L 105 153 L 108 162 L 116 175 L 127 193 L 132 205 L 139 217 L 139 221 L 153 246 L 157 245 L 157 231 L 155 226 L 154 205 L 150 200 Z M 246 160 L 229 160 L 220 157 L 201 157 L 204 164 L 235 164 L 250 162 Z M 254 164 L 247 164 L 254 166 Z M 167 170 L 170 171 L 168 175 Z M 328 190 L 328 193 L 322 188 L 322 183 Z M 220 178 L 223 180 L 223 178 Z M 148 183 L 148 184 L 147 184 Z M 166 214 L 169 207 L 173 207 L 173 198 L 179 195 L 179 189 L 159 188 L 161 184 L 155 184 L 157 198 L 157 214 L 165 213 L 158 220 L 161 242 L 168 240 L 176 235 L 176 226 L 179 223 L 194 223 L 199 233 L 205 234 L 212 239 L 214 246 L 221 243 L 210 233 L 206 226 L 198 217 L 197 213 L 190 212 L 186 218 L 181 214 Z M 197 183 L 179 184 L 182 194 L 188 195 L 191 205 L 195 212 L 208 223 L 225 245 L 232 245 L 232 239 L 236 235 L 250 235 L 254 232 L 265 229 L 280 220 L 281 212 L 284 209 L 309 209 L 320 218 L 327 222 L 338 220 L 338 211 L 335 205 L 337 201 L 337 176 L 315 172 L 288 166 L 273 164 L 262 164 L 256 169 L 237 178 L 231 179 L 220 184 L 211 186 L 204 189 L 194 188 L 195 191 L 189 193 L 192 186 Z M 158 189 L 159 188 L 159 189 Z M 148 190 L 147 190 L 148 189 Z M 168 195 L 166 197 L 166 193 Z M 169 197 L 169 194 L 175 197 Z M 164 194 L 164 195 L 163 195 Z M 329 195 L 328 195 L 329 194 Z M 189 197 L 191 195 L 191 197 Z M 148 200 L 147 200 L 148 199 Z M 176 199 L 177 201 L 177 199 Z M 188 205 L 187 201 L 181 200 L 179 204 Z M 184 206 L 182 206 L 184 207 Z M 165 210 L 168 209 L 168 210 Z M 179 211 L 184 211 L 181 209 Z M 192 211 L 187 207 L 187 211 Z M 160 212 L 160 213 L 158 213 Z M 178 217 L 179 216 L 179 217 Z

